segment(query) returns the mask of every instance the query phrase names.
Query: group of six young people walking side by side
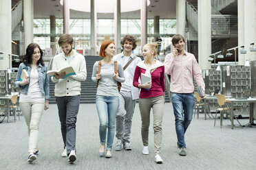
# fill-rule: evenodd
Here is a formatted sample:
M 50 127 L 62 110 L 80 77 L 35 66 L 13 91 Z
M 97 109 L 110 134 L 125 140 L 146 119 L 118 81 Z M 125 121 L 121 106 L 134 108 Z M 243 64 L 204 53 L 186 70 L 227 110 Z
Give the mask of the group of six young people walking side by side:
M 175 48 L 169 53 L 164 63 L 155 59 L 157 44 L 147 44 L 142 48 L 142 61 L 132 51 L 136 49 L 134 36 L 122 38 L 122 53 L 114 56 L 115 44 L 104 41 L 99 56 L 103 58 L 95 62 L 92 80 L 97 84 L 96 109 L 99 119 L 100 149 L 99 156 L 111 158 L 116 127 L 116 151 L 123 147 L 131 150 L 131 123 L 139 99 L 142 120 L 142 154 L 149 154 L 150 110 L 153 110 L 153 132 L 155 161 L 162 163 L 160 149 L 162 145 L 162 117 L 164 113 L 164 73 L 171 74 L 171 101 L 175 115 L 175 130 L 178 137 L 180 156 L 186 156 L 184 134 L 191 123 L 193 114 L 193 77 L 204 90 L 204 82 L 200 67 L 193 54 L 184 51 L 184 38 L 177 34 L 172 39 Z M 52 69 L 59 70 L 72 66 L 76 75 L 65 76 L 64 73 L 51 77 L 55 83 L 54 95 L 58 106 L 58 117 L 61 122 L 63 137 L 63 157 L 69 162 L 76 160 L 76 117 L 80 105 L 81 82 L 87 78 L 85 57 L 76 53 L 70 34 L 63 34 L 58 40 L 62 51 L 54 56 Z M 28 126 L 29 157 L 28 162 L 36 160 L 39 154 L 37 146 L 39 122 L 43 109 L 49 108 L 50 88 L 47 66 L 43 63 L 43 51 L 39 45 L 31 43 L 26 49 L 23 62 L 19 66 L 15 84 L 21 88 L 20 106 Z M 21 72 L 28 71 L 29 78 L 21 81 Z M 142 84 L 141 74 L 149 75 L 150 82 Z M 120 86 L 121 84 L 121 86 Z M 115 125 L 116 124 L 116 125 Z

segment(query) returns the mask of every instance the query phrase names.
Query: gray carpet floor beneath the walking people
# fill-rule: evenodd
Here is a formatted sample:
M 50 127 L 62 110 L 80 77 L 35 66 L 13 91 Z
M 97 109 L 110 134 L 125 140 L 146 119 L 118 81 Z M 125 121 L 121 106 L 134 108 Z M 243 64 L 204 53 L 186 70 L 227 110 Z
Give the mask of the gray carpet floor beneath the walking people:
M 11 117 L 10 119 L 13 119 Z M 131 151 L 112 151 L 112 158 L 99 158 L 98 115 L 95 104 L 81 104 L 76 123 L 77 161 L 70 164 L 62 158 L 63 143 L 58 110 L 50 105 L 41 119 L 39 156 L 32 163 L 28 158 L 28 133 L 25 120 L 0 124 L 0 169 L 256 169 L 256 128 L 239 127 L 231 130 L 230 121 L 193 119 L 186 132 L 187 156 L 178 155 L 174 116 L 171 104 L 164 105 L 162 124 L 162 165 L 154 162 L 153 117 L 149 130 L 149 155 L 142 155 L 140 112 L 138 104 L 131 129 Z M 248 119 L 240 119 L 242 124 Z M 114 143 L 116 143 L 116 138 Z

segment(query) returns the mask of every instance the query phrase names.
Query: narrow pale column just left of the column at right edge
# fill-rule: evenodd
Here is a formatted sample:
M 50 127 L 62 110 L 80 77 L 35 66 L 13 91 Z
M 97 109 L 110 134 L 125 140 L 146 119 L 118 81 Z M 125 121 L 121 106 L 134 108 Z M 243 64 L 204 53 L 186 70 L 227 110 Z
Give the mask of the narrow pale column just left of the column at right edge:
M 239 49 L 244 45 L 244 0 L 237 1 L 237 15 L 238 15 L 238 63 L 245 64 L 244 54 L 239 53 Z

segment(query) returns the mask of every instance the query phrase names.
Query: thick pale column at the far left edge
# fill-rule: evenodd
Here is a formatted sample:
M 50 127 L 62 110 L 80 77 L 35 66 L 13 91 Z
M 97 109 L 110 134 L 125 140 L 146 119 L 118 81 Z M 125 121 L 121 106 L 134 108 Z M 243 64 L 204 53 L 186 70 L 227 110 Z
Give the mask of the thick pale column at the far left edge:
M 0 1 L 0 51 L 12 53 L 12 1 Z M 2 56 L 2 55 L 1 55 Z M 0 69 L 10 68 L 10 57 L 3 54 L 3 60 L 0 60 Z

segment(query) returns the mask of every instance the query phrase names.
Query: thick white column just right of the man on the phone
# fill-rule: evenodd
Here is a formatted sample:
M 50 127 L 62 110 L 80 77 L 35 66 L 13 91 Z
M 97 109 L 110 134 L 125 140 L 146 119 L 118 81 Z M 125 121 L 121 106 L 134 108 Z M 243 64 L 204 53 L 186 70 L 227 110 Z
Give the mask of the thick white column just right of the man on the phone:
M 211 69 L 211 1 L 198 0 L 198 62 L 200 69 Z

